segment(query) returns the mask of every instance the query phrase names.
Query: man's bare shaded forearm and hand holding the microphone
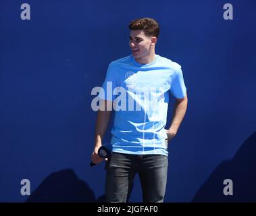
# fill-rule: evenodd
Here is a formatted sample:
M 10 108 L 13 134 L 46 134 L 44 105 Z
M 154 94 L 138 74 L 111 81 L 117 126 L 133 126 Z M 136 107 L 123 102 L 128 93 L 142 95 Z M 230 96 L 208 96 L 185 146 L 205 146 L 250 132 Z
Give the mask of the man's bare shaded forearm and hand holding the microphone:
M 93 163 L 99 163 L 103 161 L 103 159 L 98 155 L 98 149 L 102 145 L 103 136 L 105 134 L 105 131 L 107 130 L 107 126 L 109 125 L 109 120 L 111 117 L 112 101 L 103 101 L 103 103 L 100 104 L 104 107 L 100 107 L 100 110 L 97 113 L 95 128 L 95 146 L 92 155 Z

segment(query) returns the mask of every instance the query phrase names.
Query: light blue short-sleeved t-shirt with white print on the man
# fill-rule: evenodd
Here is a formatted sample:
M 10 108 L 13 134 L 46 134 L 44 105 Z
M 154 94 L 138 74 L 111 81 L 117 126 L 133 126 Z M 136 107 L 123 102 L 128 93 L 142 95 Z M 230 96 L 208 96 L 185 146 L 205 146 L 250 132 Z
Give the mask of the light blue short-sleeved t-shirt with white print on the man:
M 160 55 L 148 64 L 132 55 L 112 61 L 99 97 L 113 101 L 111 130 L 113 152 L 133 155 L 168 155 L 167 120 L 169 92 L 186 96 L 181 66 Z

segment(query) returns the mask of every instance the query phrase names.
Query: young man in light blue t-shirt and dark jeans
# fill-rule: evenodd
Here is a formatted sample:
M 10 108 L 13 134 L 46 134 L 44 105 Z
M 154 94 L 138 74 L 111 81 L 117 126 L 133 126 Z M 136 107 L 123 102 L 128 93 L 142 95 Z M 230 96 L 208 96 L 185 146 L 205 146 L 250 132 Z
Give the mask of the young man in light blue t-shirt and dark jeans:
M 144 202 L 163 202 L 168 171 L 168 141 L 177 133 L 187 107 L 186 86 L 178 63 L 155 54 L 159 24 L 141 18 L 129 24 L 132 55 L 109 64 L 99 92 L 93 163 L 116 107 L 111 130 L 113 152 L 106 162 L 107 202 L 126 202 L 138 173 Z M 111 95 L 107 88 L 111 88 Z M 169 92 L 176 98 L 172 124 L 165 130 Z M 121 93 L 121 94 L 119 94 Z M 121 109 L 120 109 L 121 102 Z

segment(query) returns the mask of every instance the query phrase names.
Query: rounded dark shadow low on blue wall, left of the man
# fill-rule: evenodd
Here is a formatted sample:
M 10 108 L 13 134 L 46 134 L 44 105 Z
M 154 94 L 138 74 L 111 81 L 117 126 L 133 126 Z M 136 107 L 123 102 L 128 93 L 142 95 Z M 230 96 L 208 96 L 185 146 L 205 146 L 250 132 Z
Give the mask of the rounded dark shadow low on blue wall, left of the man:
M 26 202 L 95 202 L 95 195 L 72 169 L 65 169 L 45 178 Z

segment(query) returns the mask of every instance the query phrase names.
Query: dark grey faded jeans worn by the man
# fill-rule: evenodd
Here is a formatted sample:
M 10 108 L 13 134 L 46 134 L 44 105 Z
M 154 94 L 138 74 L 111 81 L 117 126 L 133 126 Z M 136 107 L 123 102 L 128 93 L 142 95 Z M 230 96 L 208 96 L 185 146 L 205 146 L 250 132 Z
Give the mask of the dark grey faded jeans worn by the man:
M 126 202 L 136 173 L 143 190 L 143 202 L 163 202 L 168 171 L 167 156 L 112 153 L 105 169 L 107 202 Z

